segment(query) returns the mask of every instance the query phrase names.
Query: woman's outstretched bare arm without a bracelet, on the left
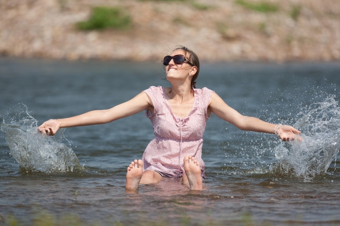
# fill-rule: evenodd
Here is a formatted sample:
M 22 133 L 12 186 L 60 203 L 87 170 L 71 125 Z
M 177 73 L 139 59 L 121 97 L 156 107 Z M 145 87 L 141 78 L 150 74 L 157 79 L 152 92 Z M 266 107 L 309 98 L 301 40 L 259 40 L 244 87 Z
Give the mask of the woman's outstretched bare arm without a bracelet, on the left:
M 92 110 L 71 118 L 48 120 L 38 129 L 43 134 L 54 135 L 59 128 L 110 123 L 151 107 L 153 107 L 151 99 L 145 92 L 141 92 L 132 99 L 110 109 Z

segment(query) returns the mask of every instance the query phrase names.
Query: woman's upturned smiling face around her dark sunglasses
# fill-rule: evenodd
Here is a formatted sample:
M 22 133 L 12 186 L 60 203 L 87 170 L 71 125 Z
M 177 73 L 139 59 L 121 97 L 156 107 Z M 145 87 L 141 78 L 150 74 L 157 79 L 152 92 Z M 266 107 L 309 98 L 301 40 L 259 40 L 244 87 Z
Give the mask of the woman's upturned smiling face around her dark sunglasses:
M 175 55 L 183 55 L 186 59 L 189 58 L 189 56 L 185 55 L 185 52 L 181 49 L 175 50 L 170 54 L 170 56 Z M 166 77 L 168 80 L 172 78 L 185 79 L 189 76 L 189 72 L 191 72 L 192 68 L 193 66 L 185 61 L 181 64 L 175 64 L 173 59 L 171 59 L 169 64 L 165 66 Z

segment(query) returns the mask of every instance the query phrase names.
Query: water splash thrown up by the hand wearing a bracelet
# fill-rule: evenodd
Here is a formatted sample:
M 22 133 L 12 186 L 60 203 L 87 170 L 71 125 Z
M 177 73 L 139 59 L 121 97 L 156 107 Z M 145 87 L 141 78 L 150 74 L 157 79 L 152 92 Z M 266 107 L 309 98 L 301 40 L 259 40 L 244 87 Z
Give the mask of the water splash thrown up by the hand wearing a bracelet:
M 310 181 L 327 172 L 331 162 L 336 161 L 340 149 L 340 107 L 335 96 L 305 107 L 298 115 L 294 127 L 299 128 L 303 141 L 290 141 L 275 148 L 280 160 L 274 172 L 302 177 Z

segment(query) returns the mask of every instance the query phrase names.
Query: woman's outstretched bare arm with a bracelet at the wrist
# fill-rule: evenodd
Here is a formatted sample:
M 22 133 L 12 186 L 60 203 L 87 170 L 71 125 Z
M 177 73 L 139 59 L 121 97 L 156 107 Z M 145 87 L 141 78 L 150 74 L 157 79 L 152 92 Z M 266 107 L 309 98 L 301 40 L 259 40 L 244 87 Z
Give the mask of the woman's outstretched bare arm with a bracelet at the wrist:
M 276 133 L 283 141 L 294 140 L 295 138 L 300 141 L 302 140 L 300 136 L 298 136 L 299 134 L 301 134 L 301 132 L 294 127 L 266 123 L 254 117 L 241 115 L 234 108 L 226 104 L 224 100 L 215 92 L 213 92 L 211 96 L 208 110 L 214 112 L 215 115 L 233 124 L 241 130 L 262 132 L 268 134 Z

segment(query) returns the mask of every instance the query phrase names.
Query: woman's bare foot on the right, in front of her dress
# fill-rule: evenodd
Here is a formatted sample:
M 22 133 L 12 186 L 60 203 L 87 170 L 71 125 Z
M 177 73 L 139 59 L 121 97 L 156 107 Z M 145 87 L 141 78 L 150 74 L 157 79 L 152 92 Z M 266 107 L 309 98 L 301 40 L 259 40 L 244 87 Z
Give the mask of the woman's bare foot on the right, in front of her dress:
M 191 190 L 202 190 L 202 177 L 200 175 L 199 163 L 191 155 L 184 156 L 184 171 L 188 178 Z

